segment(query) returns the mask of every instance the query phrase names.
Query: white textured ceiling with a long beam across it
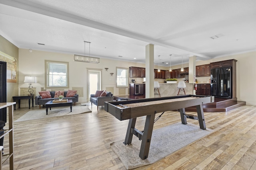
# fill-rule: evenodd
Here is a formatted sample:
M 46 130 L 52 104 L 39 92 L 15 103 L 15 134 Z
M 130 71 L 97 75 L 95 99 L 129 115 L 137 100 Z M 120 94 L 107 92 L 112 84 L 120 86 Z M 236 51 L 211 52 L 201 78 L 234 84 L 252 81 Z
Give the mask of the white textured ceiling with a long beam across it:
M 0 25 L 19 48 L 142 63 L 152 43 L 163 66 L 256 51 L 256 0 L 1 0 Z

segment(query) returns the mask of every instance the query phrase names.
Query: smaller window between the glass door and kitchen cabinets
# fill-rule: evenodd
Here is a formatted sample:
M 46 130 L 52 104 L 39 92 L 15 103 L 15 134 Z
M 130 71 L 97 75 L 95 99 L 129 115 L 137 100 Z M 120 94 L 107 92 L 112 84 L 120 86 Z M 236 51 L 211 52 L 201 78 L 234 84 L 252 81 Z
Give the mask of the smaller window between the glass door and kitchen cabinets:
M 128 68 L 116 68 L 116 87 L 128 87 Z

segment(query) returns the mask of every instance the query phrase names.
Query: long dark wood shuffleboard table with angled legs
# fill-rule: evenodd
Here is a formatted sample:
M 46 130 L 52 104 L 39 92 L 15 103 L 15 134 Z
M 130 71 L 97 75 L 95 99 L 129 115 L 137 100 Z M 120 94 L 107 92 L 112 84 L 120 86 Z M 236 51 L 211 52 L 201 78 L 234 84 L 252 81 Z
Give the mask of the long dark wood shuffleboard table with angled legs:
M 182 124 L 187 124 L 186 118 L 196 119 L 199 121 L 200 129 L 205 130 L 206 125 L 202 104 L 210 102 L 210 96 L 182 95 L 105 102 L 104 109 L 120 121 L 129 119 L 124 145 L 132 143 L 133 135 L 138 137 L 139 140 L 142 140 L 139 156 L 144 160 L 148 158 L 154 122 L 161 116 L 160 115 L 155 120 L 156 113 L 178 110 L 180 112 Z M 196 106 L 198 116 L 185 113 L 185 108 L 192 106 Z M 146 116 L 143 131 L 139 131 L 135 128 L 136 118 L 141 116 Z

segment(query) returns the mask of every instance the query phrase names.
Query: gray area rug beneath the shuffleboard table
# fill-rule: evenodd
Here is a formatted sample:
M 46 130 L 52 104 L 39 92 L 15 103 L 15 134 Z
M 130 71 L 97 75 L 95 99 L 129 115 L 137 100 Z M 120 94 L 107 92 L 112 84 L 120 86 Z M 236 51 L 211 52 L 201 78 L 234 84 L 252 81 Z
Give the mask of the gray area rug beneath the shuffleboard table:
M 124 145 L 124 140 L 122 140 L 111 143 L 110 147 L 118 155 L 126 169 L 132 169 L 157 162 L 211 132 L 211 129 L 202 130 L 199 126 L 191 123 L 187 125 L 175 123 L 156 129 L 152 133 L 148 158 L 145 160 L 139 157 L 141 141 L 135 136 L 130 145 Z

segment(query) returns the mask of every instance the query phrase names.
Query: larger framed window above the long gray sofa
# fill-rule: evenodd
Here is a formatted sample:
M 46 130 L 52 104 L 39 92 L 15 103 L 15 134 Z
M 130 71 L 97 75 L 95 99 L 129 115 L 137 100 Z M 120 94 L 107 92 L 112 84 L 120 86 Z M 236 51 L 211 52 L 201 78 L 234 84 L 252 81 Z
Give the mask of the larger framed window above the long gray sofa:
M 68 88 L 68 63 L 45 61 L 46 88 Z

